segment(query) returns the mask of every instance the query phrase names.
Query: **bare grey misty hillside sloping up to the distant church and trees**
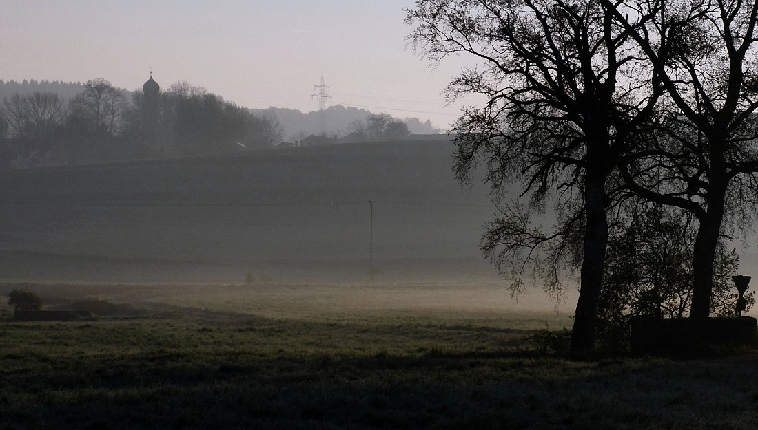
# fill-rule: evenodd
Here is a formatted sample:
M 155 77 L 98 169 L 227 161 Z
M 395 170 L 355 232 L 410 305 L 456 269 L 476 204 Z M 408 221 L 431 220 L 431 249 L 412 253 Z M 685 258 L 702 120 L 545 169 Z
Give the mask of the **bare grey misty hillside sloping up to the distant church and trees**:
M 369 199 L 385 272 L 491 274 L 478 240 L 493 208 L 485 189 L 453 179 L 452 149 L 446 140 L 334 145 L 3 172 L 2 276 L 363 273 Z

